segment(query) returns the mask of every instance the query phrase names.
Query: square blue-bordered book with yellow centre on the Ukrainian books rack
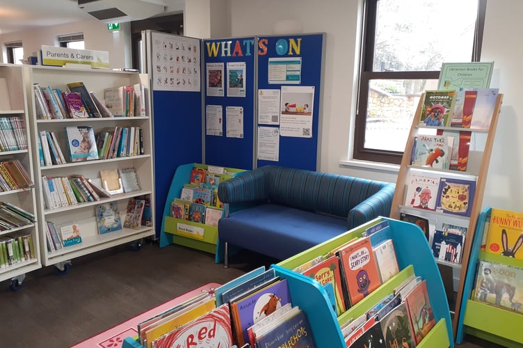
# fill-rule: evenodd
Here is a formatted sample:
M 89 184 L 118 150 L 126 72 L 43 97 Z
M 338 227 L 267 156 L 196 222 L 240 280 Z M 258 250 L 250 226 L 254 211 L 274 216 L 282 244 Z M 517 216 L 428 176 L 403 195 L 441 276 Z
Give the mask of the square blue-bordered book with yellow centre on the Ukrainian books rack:
M 470 216 L 474 193 L 476 193 L 474 180 L 442 177 L 437 190 L 436 211 Z

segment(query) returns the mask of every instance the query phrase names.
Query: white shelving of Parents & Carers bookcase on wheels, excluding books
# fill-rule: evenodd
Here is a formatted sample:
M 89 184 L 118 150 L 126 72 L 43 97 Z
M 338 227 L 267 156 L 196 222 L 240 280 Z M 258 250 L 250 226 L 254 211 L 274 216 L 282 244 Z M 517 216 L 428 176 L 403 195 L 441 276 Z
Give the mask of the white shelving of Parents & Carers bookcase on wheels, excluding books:
M 38 228 L 40 230 L 40 250 L 42 251 L 42 264 L 45 266 L 54 264 L 59 269 L 63 263 L 72 258 L 93 253 L 124 243 L 136 242 L 144 237 L 154 235 L 154 175 L 153 175 L 153 152 L 152 152 L 152 122 L 150 114 L 150 100 L 146 100 L 147 116 L 145 117 L 113 117 L 113 118 L 73 118 L 63 120 L 37 120 L 35 113 L 35 98 L 33 95 L 33 84 L 40 86 L 51 86 L 67 90 L 67 84 L 82 81 L 88 91 L 94 91 L 99 97 L 103 97 L 105 88 L 118 86 L 129 86 L 141 83 L 148 88 L 147 74 L 136 72 L 117 72 L 112 70 L 95 70 L 79 68 L 59 68 L 46 66 L 27 66 L 26 93 L 29 100 L 31 114 L 31 141 L 33 143 L 33 166 L 35 168 L 35 186 L 38 207 Z M 147 93 L 145 93 L 147 96 Z M 146 97 L 147 98 L 147 97 Z M 143 129 L 144 155 L 118 157 L 115 159 L 99 159 L 92 161 L 81 161 L 65 163 L 52 166 L 41 166 L 38 155 L 38 134 L 41 130 L 54 131 L 58 143 L 65 155 L 66 161 L 70 162 L 67 155 L 67 143 L 65 139 L 65 127 L 67 126 L 92 126 L 95 133 L 100 129 L 108 127 L 140 127 Z M 99 171 L 113 168 L 134 167 L 138 173 L 140 191 L 130 193 L 118 193 L 111 198 L 101 198 L 99 201 L 79 203 L 55 209 L 46 209 L 42 193 L 42 175 L 47 177 L 69 177 L 81 174 L 88 178 L 99 177 Z M 115 232 L 99 235 L 95 217 L 95 207 L 101 203 L 113 202 L 118 204 L 122 224 L 125 219 L 127 203 L 131 198 L 148 194 L 151 196 L 152 226 L 141 226 L 139 230 L 123 228 Z M 82 242 L 50 252 L 46 246 L 45 223 L 52 221 L 56 226 L 68 223 L 79 223 Z M 60 266 L 58 266 L 58 264 Z

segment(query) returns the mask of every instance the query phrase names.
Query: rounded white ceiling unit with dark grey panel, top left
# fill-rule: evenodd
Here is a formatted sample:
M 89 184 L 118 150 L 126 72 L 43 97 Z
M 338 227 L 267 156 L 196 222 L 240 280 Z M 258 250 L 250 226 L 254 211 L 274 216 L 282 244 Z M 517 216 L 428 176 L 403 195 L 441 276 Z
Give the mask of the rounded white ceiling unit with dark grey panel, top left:
M 163 13 L 166 6 L 147 0 L 78 0 L 78 7 L 102 22 L 130 22 Z

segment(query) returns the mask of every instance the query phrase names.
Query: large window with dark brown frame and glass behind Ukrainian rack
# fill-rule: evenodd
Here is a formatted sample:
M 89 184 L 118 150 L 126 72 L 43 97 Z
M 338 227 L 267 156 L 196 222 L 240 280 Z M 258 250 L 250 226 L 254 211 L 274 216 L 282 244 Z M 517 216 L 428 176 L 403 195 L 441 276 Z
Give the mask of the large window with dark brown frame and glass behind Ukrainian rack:
M 366 0 L 353 158 L 399 164 L 443 62 L 479 61 L 486 0 Z

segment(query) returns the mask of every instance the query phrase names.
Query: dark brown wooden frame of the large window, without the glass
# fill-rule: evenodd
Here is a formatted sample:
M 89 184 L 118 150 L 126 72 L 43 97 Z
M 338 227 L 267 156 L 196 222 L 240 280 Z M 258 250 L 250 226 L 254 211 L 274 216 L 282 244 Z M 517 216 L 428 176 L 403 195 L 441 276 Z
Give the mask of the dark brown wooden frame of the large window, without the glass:
M 403 151 L 399 152 L 364 147 L 370 82 L 374 79 L 439 79 L 440 70 L 373 72 L 378 1 L 380 0 L 364 0 L 360 76 L 357 86 L 357 107 L 353 129 L 354 142 L 352 158 L 386 164 L 401 164 Z M 478 15 L 476 26 L 474 28 L 474 43 L 471 57 L 472 62 L 481 61 L 481 42 L 483 41 L 486 6 L 487 0 L 478 0 Z

